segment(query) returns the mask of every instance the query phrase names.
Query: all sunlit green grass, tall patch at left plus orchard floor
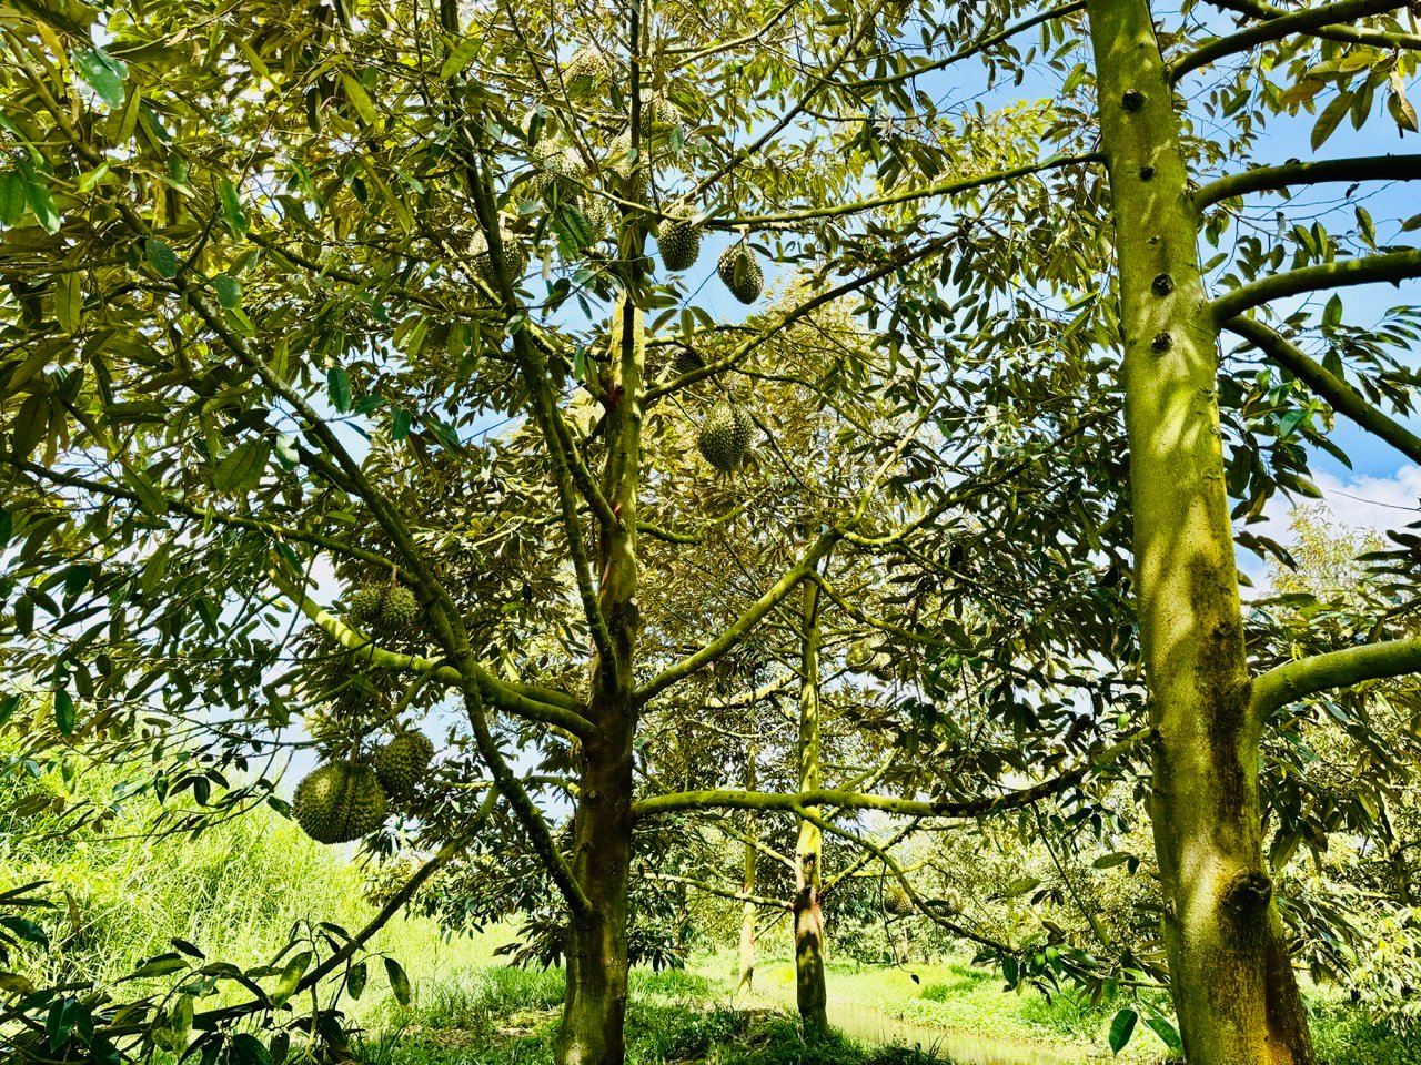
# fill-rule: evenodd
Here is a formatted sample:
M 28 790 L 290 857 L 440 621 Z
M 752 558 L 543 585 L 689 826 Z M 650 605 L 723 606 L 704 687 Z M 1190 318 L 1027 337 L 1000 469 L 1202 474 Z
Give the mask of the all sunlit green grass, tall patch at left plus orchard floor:
M 16 790 L 16 781 L 0 791 Z M 48 785 L 57 787 L 53 782 Z M 27 785 L 33 787 L 33 785 Z M 112 780 L 82 780 L 101 794 Z M 209 958 L 242 967 L 269 963 L 304 923 L 347 929 L 372 914 L 361 869 L 345 848 L 323 848 L 269 809 L 198 839 L 144 839 L 152 809 L 125 807 L 102 835 L 45 834 L 43 824 L 9 812 L 0 795 L 0 883 L 54 883 L 74 900 L 45 919 L 55 949 L 30 950 L 21 963 L 37 978 L 81 976 L 101 983 L 171 949 L 173 936 Z M 369 987 L 347 1004 L 358 1025 L 362 1065 L 519 1065 L 547 1062 L 563 998 L 561 970 L 507 968 L 495 950 L 512 939 L 495 926 L 445 939 L 428 920 L 396 919 L 371 943 L 396 957 L 414 998 L 398 1005 L 384 967 L 369 966 Z M 770 947 L 772 944 L 766 944 Z M 632 1065 L 914 1065 L 929 1054 L 868 1048 L 836 1037 L 809 1045 L 791 1020 L 793 964 L 764 957 L 756 994 L 733 1000 L 729 951 L 696 958 L 691 971 L 635 971 L 627 1039 Z M 830 1018 L 850 1034 L 877 1039 L 887 1030 L 929 1051 L 966 1038 L 1000 1044 L 1020 1061 L 1108 1059 L 1106 1030 L 1118 1004 L 1091 1005 L 1073 994 L 1046 1000 L 1003 993 L 998 974 L 962 958 L 909 967 L 831 961 Z M 246 997 L 244 993 L 234 991 Z M 216 1004 L 207 1001 L 203 1005 Z M 1339 1003 L 1314 1005 L 1313 1031 L 1323 1065 L 1421 1065 L 1421 1039 L 1374 1022 Z M 1043 1049 L 1044 1048 L 1044 1049 Z M 1042 1056 L 1033 1056 L 1042 1051 Z M 1046 1056 L 1046 1051 L 1056 1056 Z M 1066 1056 L 1060 1056 L 1066 1055 Z M 1142 1025 L 1121 1055 L 1155 1062 L 1162 1044 Z

